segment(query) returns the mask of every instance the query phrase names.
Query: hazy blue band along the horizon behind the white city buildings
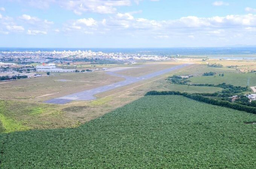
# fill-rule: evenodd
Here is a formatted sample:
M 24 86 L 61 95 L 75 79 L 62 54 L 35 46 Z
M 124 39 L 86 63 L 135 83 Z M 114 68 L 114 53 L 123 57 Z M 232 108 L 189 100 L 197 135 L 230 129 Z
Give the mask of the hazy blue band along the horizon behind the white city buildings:
M 0 48 L 0 51 L 102 51 L 104 53 L 127 53 L 148 55 L 253 55 L 256 47 L 218 48 Z

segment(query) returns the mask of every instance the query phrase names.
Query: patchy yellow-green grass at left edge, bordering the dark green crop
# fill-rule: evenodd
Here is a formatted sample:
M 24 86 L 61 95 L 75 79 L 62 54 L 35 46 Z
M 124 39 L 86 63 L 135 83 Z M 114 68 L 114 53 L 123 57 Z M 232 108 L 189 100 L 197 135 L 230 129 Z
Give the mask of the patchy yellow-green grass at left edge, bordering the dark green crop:
M 2 132 L 9 133 L 33 128 L 74 126 L 76 121 L 64 116 L 64 113 L 58 105 L 0 100 L 0 131 L 1 128 Z

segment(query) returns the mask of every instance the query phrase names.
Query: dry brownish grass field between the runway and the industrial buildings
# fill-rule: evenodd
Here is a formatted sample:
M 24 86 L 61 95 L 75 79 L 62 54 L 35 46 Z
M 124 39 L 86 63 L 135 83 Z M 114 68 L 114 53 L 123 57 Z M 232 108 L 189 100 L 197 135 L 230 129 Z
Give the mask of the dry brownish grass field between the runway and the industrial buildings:
M 0 98 L 42 101 L 122 80 L 123 78 L 104 72 L 51 73 L 49 77 L 23 79 L 1 84 Z M 44 95 L 46 96 L 41 97 Z

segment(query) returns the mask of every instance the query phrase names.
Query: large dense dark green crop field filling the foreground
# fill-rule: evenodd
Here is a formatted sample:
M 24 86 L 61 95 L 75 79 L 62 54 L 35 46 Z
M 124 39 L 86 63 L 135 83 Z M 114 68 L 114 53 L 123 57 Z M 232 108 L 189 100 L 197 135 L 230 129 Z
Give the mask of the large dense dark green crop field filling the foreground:
M 251 122 L 182 96 L 146 96 L 78 128 L 1 134 L 0 168 L 255 168 Z

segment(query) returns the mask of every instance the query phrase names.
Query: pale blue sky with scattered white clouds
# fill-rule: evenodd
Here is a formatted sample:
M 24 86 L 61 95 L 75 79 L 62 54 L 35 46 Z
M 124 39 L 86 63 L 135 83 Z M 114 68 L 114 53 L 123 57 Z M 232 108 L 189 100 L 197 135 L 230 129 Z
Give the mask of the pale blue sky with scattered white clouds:
M 0 47 L 228 47 L 255 39 L 255 0 L 0 0 Z

